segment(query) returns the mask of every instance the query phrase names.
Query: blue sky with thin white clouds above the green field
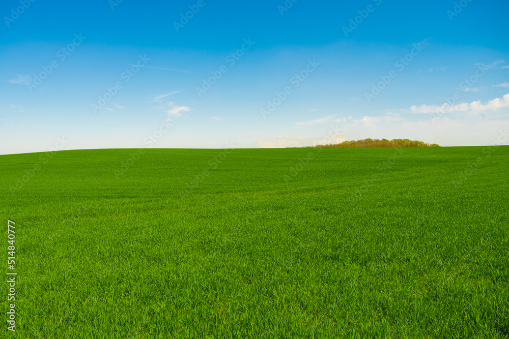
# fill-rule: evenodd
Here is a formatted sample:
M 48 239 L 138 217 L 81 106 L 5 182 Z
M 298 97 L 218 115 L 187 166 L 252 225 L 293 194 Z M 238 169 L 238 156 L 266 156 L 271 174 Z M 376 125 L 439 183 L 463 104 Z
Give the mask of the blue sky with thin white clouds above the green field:
M 509 122 L 508 9 L 6 1 L 0 153 L 58 138 L 62 149 L 492 144 Z

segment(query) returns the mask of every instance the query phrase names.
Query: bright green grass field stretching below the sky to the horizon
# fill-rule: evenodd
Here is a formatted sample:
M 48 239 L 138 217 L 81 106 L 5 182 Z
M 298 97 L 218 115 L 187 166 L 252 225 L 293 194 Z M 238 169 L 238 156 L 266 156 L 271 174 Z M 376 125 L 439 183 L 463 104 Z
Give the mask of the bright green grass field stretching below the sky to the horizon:
M 509 146 L 141 153 L 0 156 L 10 337 L 509 337 Z

